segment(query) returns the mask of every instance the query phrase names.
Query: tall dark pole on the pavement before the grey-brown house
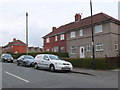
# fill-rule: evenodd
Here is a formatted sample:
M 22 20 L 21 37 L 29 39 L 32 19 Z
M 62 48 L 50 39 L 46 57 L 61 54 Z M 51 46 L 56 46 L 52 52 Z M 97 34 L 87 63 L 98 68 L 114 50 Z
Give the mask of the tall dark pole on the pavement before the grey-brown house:
M 93 15 L 92 15 L 92 1 L 90 0 L 90 11 L 91 11 L 91 30 L 92 30 L 92 68 L 95 70 L 95 48 L 94 48 L 94 30 L 93 30 Z

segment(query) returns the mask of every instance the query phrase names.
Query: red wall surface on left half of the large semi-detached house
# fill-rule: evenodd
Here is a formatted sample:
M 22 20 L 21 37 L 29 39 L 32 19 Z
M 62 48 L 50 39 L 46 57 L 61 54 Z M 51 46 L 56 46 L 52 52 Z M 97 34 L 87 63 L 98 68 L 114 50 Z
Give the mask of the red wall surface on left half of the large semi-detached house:
M 55 46 L 59 47 L 59 52 L 60 52 L 60 47 L 65 47 L 65 52 L 67 51 L 66 49 L 66 34 L 64 34 L 64 40 L 60 40 L 60 35 L 57 35 L 58 40 L 55 41 L 55 36 L 50 37 L 50 42 L 46 43 L 46 38 L 44 38 L 44 51 L 47 49 L 50 49 L 52 51 L 52 48 Z

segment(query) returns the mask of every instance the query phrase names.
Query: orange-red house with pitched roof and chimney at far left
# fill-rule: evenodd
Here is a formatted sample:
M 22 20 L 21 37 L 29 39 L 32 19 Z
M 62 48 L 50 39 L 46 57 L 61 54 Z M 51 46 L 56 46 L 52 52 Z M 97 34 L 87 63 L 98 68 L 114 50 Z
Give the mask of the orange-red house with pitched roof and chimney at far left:
M 12 42 L 9 42 L 6 46 L 2 47 L 3 53 L 26 53 L 26 44 L 21 40 L 13 39 Z

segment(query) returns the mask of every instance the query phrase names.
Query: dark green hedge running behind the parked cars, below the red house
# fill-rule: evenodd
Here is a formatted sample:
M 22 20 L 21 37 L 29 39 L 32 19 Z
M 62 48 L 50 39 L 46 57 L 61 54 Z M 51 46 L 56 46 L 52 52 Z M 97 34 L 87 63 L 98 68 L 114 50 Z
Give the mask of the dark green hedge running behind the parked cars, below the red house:
M 54 55 L 58 55 L 59 57 L 62 58 L 68 58 L 69 55 L 67 52 L 40 52 L 40 53 L 28 53 L 28 55 L 31 55 L 33 57 L 35 57 L 38 54 L 54 54 Z M 19 58 L 21 55 L 26 55 L 26 53 L 17 53 L 17 54 L 11 54 L 13 56 L 14 59 Z

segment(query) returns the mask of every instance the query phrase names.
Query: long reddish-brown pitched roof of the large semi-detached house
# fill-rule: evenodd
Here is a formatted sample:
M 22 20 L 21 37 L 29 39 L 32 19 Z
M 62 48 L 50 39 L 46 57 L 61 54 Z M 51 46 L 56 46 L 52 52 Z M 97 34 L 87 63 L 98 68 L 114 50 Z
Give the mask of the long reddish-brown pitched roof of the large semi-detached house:
M 105 13 L 98 13 L 98 14 L 95 14 L 93 15 L 93 24 L 95 23 L 99 23 L 99 22 L 103 22 L 103 21 L 106 21 L 106 20 L 113 20 L 113 21 L 116 21 L 116 22 L 119 22 L 119 20 L 105 14 Z M 60 27 L 58 27 L 56 30 L 50 32 L 49 34 L 45 35 L 43 38 L 46 38 L 46 37 L 51 37 L 52 35 L 55 35 L 55 34 L 58 34 L 58 33 L 61 33 L 61 32 L 66 32 L 68 30 L 72 30 L 72 29 L 77 29 L 77 28 L 80 28 L 80 27 L 84 27 L 84 26 L 89 26 L 91 25 L 91 17 L 86 17 L 86 18 L 83 18 L 81 19 L 80 21 L 74 21 L 74 22 L 71 22 L 71 23 L 68 23 L 68 24 L 65 24 L 65 25 L 62 25 Z

